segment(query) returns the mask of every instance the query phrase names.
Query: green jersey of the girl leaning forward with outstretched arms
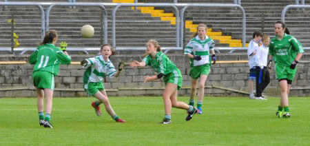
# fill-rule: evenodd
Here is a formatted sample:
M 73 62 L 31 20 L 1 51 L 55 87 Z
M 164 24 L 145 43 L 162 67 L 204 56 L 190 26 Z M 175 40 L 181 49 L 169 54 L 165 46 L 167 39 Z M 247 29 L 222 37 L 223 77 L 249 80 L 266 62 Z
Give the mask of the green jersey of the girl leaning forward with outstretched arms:
M 151 65 L 153 70 L 158 74 L 163 73 L 167 75 L 176 70 L 176 65 L 174 65 L 163 52 L 157 52 L 155 58 L 151 55 L 147 55 L 143 61 L 145 62 L 145 66 Z

